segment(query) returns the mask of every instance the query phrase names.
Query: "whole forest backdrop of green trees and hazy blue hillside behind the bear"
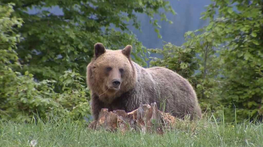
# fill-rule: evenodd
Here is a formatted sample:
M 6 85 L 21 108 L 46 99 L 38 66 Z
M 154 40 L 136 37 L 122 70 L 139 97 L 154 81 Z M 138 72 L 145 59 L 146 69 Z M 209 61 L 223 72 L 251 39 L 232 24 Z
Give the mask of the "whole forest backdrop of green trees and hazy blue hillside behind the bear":
M 261 0 L 1 0 L 0 119 L 91 120 L 85 70 L 97 42 L 131 44 L 135 62 L 187 78 L 203 113 L 262 120 Z

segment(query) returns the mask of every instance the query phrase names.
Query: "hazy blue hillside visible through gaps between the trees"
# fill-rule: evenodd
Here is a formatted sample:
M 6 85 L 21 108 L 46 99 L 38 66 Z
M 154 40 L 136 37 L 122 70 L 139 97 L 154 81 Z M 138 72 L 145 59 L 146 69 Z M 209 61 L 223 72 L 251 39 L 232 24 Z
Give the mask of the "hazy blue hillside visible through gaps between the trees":
M 205 5 L 210 4 L 210 0 L 169 0 L 172 8 L 177 13 L 167 13 L 166 16 L 173 24 L 168 22 L 160 22 L 160 34 L 162 38 L 158 38 L 154 27 L 149 23 L 149 17 L 146 14 L 137 14 L 138 21 L 141 23 L 141 30 L 129 26 L 129 29 L 137 36 L 138 40 L 143 43 L 146 48 L 162 48 L 163 41 L 171 42 L 174 45 L 181 45 L 184 42 L 184 33 L 193 31 L 207 25 L 208 22 L 201 20 L 201 13 L 205 11 Z M 56 15 L 63 15 L 59 7 L 44 8 Z M 37 13 L 38 10 L 30 9 L 30 14 Z

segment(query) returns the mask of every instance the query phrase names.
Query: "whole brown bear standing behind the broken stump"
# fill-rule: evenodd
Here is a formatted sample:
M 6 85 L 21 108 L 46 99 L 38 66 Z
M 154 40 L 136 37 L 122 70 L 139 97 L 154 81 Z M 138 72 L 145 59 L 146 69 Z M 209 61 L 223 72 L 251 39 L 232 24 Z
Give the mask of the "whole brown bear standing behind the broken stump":
M 94 58 L 87 66 L 94 119 L 102 108 L 128 113 L 140 103 L 154 102 L 175 117 L 190 114 L 190 119 L 200 118 L 201 109 L 190 83 L 164 67 L 139 66 L 131 61 L 131 48 L 127 45 L 123 50 L 107 50 L 101 43 L 94 45 Z

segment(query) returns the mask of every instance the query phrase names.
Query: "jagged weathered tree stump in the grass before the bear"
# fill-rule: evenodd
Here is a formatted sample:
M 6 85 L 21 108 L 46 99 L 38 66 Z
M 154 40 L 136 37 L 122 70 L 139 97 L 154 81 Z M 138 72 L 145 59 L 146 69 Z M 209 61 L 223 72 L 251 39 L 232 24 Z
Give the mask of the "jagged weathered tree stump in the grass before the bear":
M 170 128 L 179 119 L 158 110 L 156 103 L 140 104 L 140 107 L 130 113 L 123 110 L 108 112 L 108 109 L 100 111 L 99 118 L 89 124 L 92 129 L 103 127 L 105 130 L 117 130 L 125 132 L 127 130 L 141 130 L 143 133 L 158 132 Z

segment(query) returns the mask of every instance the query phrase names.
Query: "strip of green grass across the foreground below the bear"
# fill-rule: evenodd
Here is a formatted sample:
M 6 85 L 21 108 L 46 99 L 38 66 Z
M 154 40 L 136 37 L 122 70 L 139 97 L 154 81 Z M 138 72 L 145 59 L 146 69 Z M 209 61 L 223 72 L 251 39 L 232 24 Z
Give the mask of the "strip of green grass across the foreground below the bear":
M 184 120 L 163 135 L 90 130 L 69 118 L 50 117 L 46 123 L 1 122 L 0 146 L 263 146 L 263 124 L 227 124 L 214 117 Z M 32 144 L 32 143 L 31 143 Z M 33 146 L 33 145 L 31 145 Z

